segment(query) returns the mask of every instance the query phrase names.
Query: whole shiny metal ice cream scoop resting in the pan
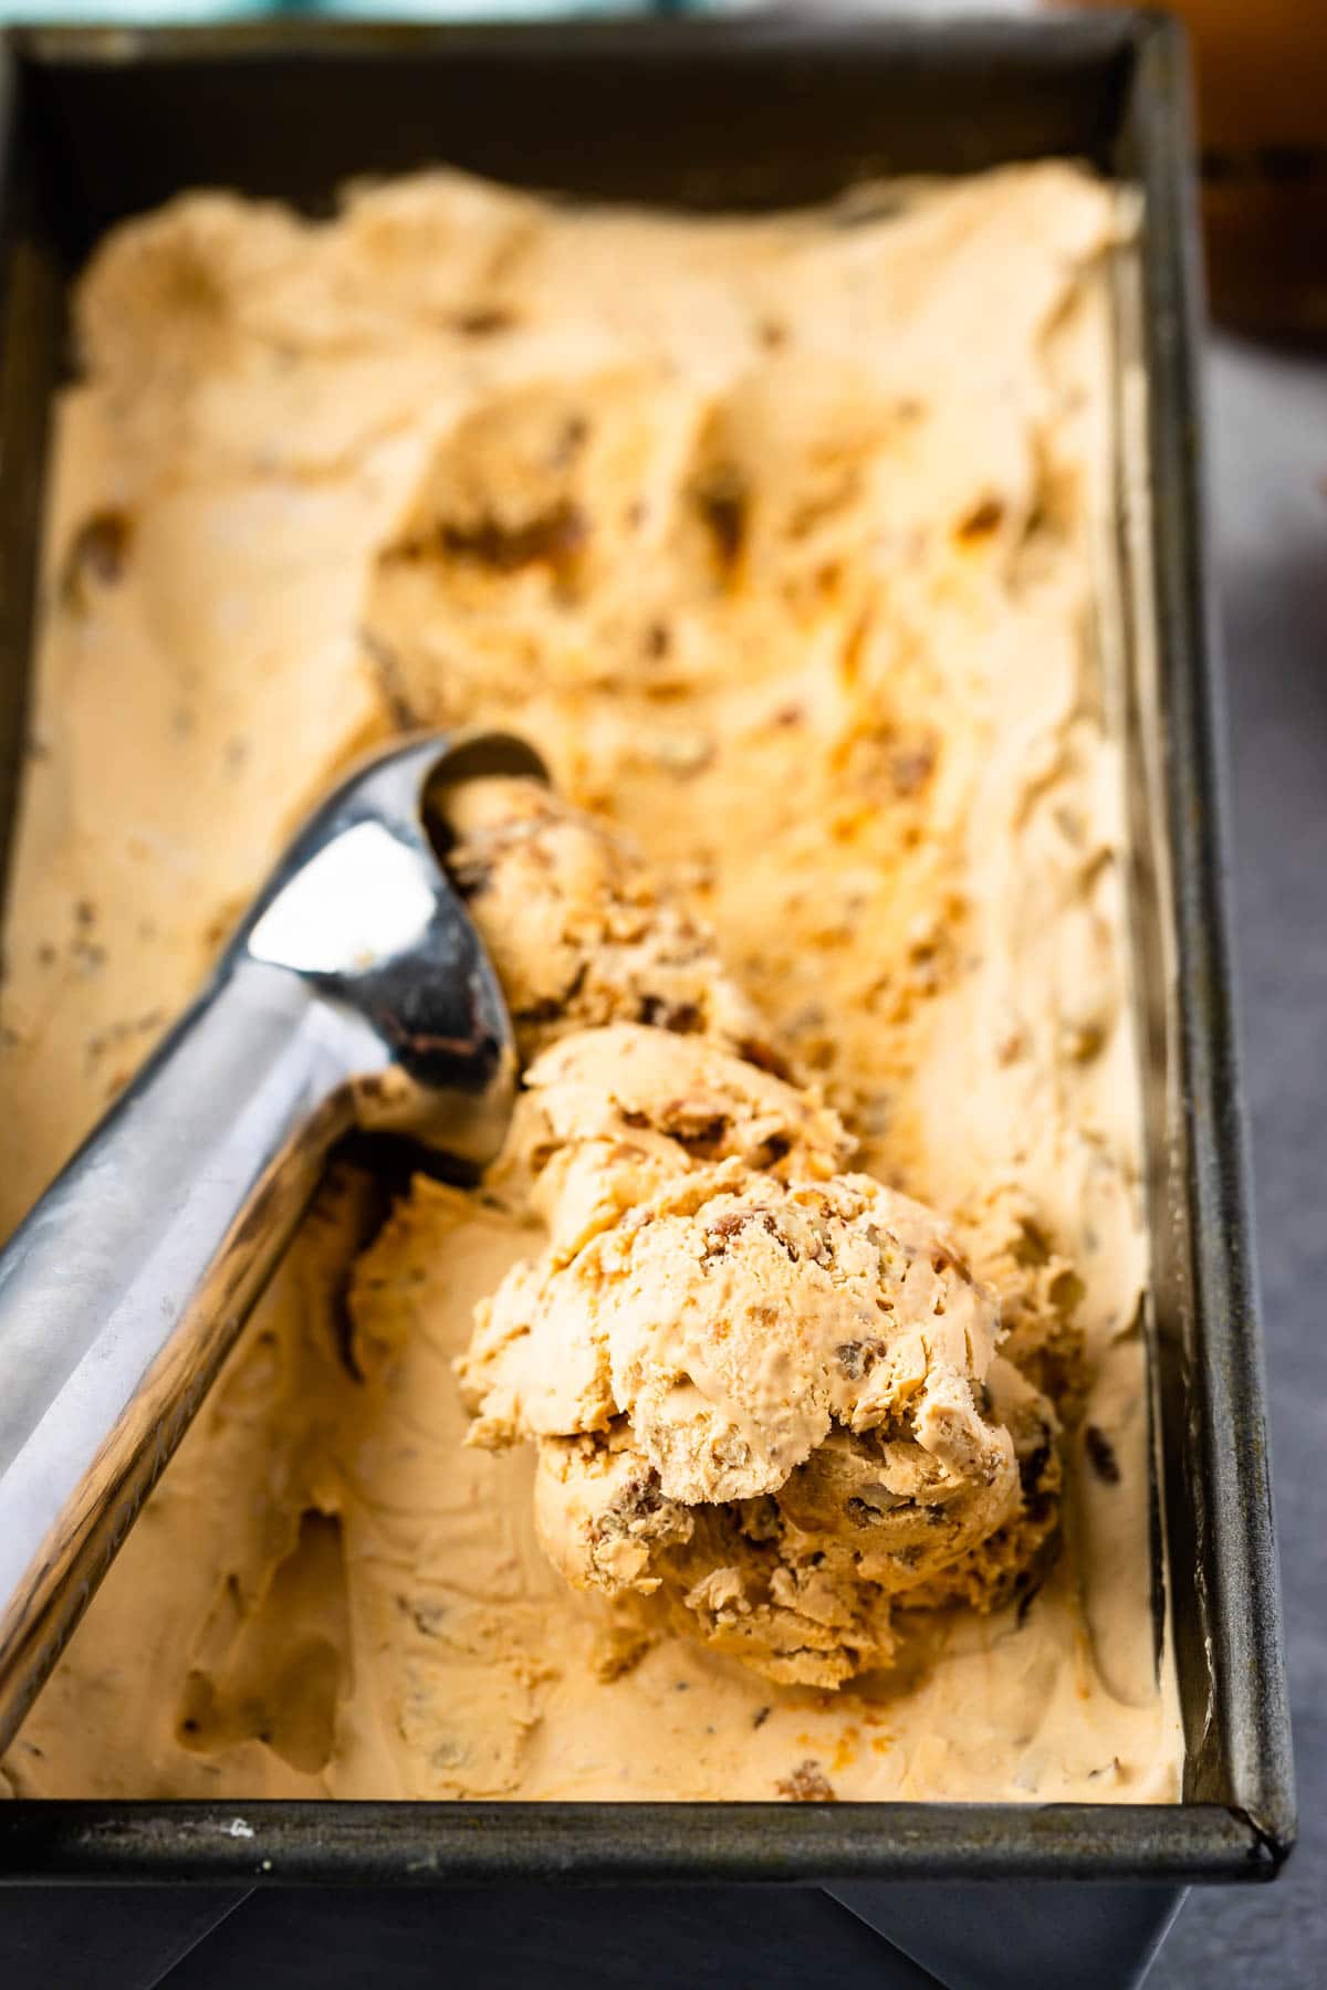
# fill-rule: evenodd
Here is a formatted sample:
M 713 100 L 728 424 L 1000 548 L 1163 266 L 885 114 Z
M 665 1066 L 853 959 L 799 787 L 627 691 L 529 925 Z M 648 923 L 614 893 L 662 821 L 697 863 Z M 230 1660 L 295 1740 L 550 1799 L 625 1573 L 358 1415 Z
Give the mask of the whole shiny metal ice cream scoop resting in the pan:
M 515 1093 L 497 979 L 430 800 L 543 766 L 396 746 L 306 822 L 201 997 L 0 1254 L 0 1751 L 352 1126 L 489 1160 Z

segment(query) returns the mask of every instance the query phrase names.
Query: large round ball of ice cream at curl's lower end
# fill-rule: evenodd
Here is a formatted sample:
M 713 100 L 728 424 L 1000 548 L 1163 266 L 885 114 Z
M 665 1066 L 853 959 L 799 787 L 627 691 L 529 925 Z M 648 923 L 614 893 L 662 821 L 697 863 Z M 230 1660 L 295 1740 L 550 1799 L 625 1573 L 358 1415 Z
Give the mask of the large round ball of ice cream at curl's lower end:
M 559 1152 L 635 1178 L 599 1148 Z M 481 1307 L 472 1441 L 535 1439 L 539 1532 L 569 1582 L 663 1590 L 718 1650 L 836 1686 L 885 1664 L 891 1606 L 1021 1506 L 987 1411 L 997 1307 L 941 1220 L 865 1176 L 684 1146 L 655 1166 L 581 1242 L 555 1222 Z

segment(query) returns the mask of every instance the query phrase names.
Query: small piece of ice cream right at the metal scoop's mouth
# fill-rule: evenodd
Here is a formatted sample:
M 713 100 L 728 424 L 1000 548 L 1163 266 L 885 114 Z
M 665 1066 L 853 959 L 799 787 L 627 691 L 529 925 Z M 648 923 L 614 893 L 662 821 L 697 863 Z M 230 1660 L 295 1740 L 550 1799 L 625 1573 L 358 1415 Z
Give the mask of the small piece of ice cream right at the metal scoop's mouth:
M 649 1023 L 782 1069 L 714 935 L 655 888 L 621 836 L 535 780 L 456 790 L 448 868 L 507 995 L 523 1059 L 569 1031 Z

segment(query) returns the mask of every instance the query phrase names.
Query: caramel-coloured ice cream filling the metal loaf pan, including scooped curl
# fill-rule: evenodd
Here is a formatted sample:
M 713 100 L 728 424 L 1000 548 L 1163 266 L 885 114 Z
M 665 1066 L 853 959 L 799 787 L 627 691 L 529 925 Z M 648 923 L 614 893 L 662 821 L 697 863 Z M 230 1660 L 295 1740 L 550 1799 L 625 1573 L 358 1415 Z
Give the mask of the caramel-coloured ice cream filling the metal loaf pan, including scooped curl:
M 1168 1801 L 1116 740 L 1116 195 L 191 195 L 78 304 L 16 1222 L 416 724 L 525 1085 L 344 1158 L 0 1775 Z

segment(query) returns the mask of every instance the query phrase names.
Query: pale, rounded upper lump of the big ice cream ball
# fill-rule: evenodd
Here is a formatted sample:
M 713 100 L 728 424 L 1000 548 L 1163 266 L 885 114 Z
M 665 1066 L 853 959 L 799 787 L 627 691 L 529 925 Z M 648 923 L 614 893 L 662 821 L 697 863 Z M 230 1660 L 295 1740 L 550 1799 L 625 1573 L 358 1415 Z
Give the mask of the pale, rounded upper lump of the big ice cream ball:
M 670 1498 L 752 1498 L 832 1425 L 905 1419 L 927 1496 L 1013 1479 L 973 1403 L 991 1297 L 937 1218 L 865 1176 L 686 1168 L 569 1258 L 503 1284 L 464 1363 L 483 1429 L 565 1437 L 629 1415 Z

